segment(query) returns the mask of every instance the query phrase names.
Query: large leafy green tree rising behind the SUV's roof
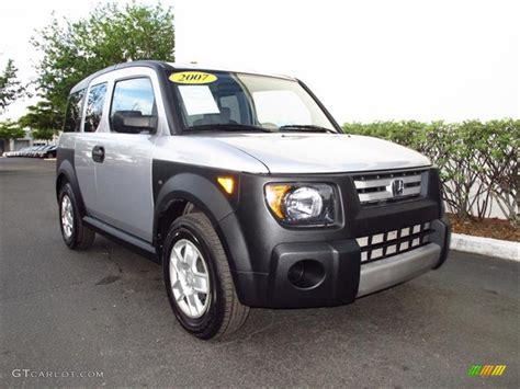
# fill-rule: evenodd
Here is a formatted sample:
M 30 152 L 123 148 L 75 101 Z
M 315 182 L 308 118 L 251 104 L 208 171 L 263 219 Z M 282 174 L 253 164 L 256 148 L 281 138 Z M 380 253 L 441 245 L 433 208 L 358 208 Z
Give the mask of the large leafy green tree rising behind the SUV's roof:
M 160 3 L 100 4 L 79 21 L 55 18 L 37 33 L 32 44 L 43 56 L 36 87 L 59 112 L 70 89 L 102 68 L 138 59 L 174 60 L 173 12 Z

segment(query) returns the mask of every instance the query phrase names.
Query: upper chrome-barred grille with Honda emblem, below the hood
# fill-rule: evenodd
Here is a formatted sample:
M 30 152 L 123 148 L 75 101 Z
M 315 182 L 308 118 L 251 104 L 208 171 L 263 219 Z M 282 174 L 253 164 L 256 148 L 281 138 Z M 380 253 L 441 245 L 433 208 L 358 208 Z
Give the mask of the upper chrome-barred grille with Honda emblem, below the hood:
M 420 196 L 426 170 L 381 172 L 353 178 L 361 205 L 395 203 Z

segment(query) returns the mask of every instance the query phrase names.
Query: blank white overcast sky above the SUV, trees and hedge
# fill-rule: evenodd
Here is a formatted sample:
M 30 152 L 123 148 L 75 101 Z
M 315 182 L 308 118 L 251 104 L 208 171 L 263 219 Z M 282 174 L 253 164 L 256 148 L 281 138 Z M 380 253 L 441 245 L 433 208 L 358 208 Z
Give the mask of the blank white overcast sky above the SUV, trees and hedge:
M 156 3 L 156 1 L 140 1 Z M 34 77 L 34 28 L 98 1 L 0 4 L 0 66 Z M 517 0 L 174 0 L 177 60 L 285 73 L 338 122 L 520 115 Z M 19 102 L 7 117 L 23 114 Z

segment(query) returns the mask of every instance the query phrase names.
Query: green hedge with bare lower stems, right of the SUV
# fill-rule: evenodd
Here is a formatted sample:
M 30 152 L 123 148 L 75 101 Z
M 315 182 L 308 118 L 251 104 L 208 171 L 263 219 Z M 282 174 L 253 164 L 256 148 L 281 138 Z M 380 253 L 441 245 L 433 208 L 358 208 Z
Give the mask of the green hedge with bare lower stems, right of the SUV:
M 384 138 L 428 156 L 439 168 L 448 210 L 484 218 L 495 199 L 519 227 L 520 121 L 346 123 L 349 134 Z

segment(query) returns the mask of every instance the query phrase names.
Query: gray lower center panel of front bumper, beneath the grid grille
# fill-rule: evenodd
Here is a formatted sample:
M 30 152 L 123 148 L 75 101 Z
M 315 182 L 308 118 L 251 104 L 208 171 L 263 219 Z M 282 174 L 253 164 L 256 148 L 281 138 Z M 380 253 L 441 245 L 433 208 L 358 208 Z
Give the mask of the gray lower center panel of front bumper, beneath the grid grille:
M 441 247 L 430 243 L 386 260 L 361 265 L 357 297 L 404 283 L 434 267 Z

